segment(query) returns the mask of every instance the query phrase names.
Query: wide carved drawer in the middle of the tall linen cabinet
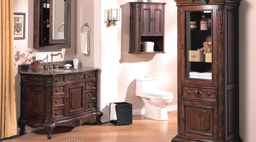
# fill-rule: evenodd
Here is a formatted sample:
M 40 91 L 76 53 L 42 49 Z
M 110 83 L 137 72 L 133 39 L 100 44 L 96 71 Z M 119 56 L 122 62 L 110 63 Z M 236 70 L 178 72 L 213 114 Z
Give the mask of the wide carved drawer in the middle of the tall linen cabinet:
M 217 88 L 182 86 L 182 98 L 217 101 Z

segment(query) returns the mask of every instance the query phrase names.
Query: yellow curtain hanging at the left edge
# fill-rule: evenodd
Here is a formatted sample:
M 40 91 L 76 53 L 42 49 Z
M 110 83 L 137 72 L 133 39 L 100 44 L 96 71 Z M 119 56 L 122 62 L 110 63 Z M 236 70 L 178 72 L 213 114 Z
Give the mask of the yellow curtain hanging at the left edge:
M 13 49 L 13 0 L 1 0 L 0 3 L 0 137 L 17 134 L 14 49 Z

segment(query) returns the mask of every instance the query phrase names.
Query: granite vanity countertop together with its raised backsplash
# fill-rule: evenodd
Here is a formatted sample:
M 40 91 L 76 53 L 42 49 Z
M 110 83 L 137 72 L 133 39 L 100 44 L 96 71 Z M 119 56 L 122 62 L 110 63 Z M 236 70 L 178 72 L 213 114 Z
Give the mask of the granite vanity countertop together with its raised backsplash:
M 44 70 L 43 65 L 44 63 L 40 64 L 40 68 L 36 72 L 32 72 L 31 65 L 30 64 L 24 64 L 19 65 L 18 70 L 20 74 L 34 74 L 34 75 L 60 75 L 60 74 L 69 74 L 69 73 L 79 73 L 79 72 L 85 72 L 85 71 L 96 71 L 99 70 L 99 68 L 89 68 L 89 67 L 78 67 L 73 68 L 73 61 L 60 61 L 55 62 L 59 64 L 59 69 L 49 69 Z M 72 67 L 69 67 L 69 69 L 66 69 L 63 67 L 65 64 L 71 64 Z

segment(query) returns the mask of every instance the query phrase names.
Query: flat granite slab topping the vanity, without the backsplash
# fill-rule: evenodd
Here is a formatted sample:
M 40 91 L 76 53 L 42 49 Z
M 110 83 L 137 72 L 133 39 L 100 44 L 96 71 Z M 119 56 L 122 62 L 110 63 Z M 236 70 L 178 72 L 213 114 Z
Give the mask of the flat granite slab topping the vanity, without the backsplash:
M 63 71 L 64 70 L 64 71 Z M 78 67 L 74 69 L 70 67 L 69 69 L 59 68 L 59 69 L 49 69 L 49 70 L 39 70 L 36 72 L 33 71 L 19 71 L 20 74 L 35 74 L 35 75 L 60 75 L 60 74 L 68 74 L 68 73 L 79 73 L 85 71 L 95 71 L 99 70 L 99 68 L 88 68 L 88 67 Z

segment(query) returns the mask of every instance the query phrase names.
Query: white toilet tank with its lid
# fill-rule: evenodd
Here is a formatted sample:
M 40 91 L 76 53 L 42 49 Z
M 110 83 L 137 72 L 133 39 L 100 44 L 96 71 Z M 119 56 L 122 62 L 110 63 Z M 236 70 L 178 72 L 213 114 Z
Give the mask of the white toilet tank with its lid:
M 139 96 L 152 90 L 160 90 L 157 78 L 142 77 L 136 79 L 135 95 Z

